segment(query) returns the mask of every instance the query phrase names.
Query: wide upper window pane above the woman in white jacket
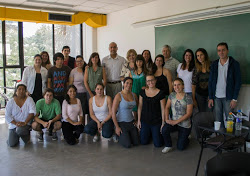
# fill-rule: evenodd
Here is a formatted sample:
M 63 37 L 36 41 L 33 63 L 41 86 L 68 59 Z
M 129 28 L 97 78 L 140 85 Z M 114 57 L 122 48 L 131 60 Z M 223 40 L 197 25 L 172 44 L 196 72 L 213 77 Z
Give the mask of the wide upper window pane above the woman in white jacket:
M 24 65 L 33 65 L 33 58 L 42 51 L 47 51 L 53 63 L 52 24 L 23 23 Z

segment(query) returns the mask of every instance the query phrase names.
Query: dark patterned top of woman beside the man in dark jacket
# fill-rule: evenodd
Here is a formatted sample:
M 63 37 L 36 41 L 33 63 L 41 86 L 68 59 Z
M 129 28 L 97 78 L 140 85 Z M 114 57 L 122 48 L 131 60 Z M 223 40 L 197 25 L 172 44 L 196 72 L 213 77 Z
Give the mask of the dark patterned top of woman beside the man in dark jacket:
M 192 76 L 192 84 L 196 86 L 195 92 L 201 96 L 208 96 L 208 80 L 209 72 L 197 72 L 194 69 Z

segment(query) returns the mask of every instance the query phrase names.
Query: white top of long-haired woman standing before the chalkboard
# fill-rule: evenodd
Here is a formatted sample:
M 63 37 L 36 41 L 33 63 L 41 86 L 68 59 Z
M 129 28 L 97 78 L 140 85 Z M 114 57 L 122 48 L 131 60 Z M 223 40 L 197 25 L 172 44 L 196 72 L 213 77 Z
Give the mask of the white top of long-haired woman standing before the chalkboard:
M 182 65 L 182 63 L 180 63 L 178 65 L 178 68 L 177 68 L 178 77 L 181 78 L 184 81 L 185 93 L 192 93 L 193 71 L 190 72 L 188 70 L 182 70 L 181 65 Z

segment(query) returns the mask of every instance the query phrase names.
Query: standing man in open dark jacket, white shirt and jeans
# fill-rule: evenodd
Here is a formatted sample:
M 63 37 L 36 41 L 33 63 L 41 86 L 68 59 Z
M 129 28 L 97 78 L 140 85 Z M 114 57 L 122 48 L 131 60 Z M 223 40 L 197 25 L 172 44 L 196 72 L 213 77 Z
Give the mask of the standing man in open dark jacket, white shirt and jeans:
M 224 125 L 224 113 L 227 115 L 237 105 L 237 98 L 241 87 L 240 64 L 233 57 L 228 56 L 228 45 L 225 42 L 217 45 L 220 57 L 211 65 L 208 82 L 208 107 L 214 106 L 215 119 Z

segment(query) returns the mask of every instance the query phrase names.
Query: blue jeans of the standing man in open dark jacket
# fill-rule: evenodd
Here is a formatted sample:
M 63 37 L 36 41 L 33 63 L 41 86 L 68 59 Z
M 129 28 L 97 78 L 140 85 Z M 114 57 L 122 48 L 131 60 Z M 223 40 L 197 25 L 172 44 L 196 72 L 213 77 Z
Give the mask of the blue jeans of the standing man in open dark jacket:
M 221 127 L 225 128 L 224 124 L 224 113 L 226 117 L 229 112 L 233 109 L 230 108 L 231 100 L 226 100 L 226 98 L 215 98 L 214 99 L 214 111 L 215 111 L 215 120 L 221 122 Z

